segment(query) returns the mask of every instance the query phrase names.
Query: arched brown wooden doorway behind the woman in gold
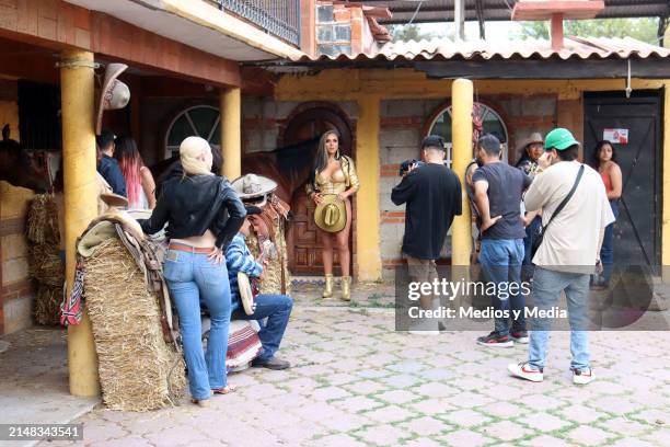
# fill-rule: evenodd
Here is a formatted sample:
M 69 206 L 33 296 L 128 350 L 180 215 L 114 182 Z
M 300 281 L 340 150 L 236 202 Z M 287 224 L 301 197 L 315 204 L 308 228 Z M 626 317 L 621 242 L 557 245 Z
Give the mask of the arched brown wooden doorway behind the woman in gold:
M 343 152 L 351 156 L 354 147 L 351 126 L 344 113 L 330 104 L 308 104 L 297 110 L 289 117 L 278 146 L 286 147 L 310 140 L 331 129 L 339 133 Z M 322 242 L 314 224 L 314 203 L 307 198 L 304 192 L 305 183 L 292 192 L 290 205 L 293 219 L 287 233 L 289 268 L 293 275 L 298 276 L 323 274 Z M 334 274 L 342 275 L 337 251 L 335 251 Z

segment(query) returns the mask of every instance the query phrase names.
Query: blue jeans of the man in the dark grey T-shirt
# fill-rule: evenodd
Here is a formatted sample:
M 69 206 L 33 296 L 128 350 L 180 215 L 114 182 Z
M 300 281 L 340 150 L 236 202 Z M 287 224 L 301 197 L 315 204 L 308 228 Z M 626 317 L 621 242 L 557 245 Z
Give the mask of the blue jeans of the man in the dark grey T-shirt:
M 483 239 L 480 263 L 484 278 L 496 284 L 498 294 L 492 296 L 494 309 L 510 313 L 512 332 L 525 331 L 525 298 L 520 294 L 523 239 Z M 512 310 L 521 311 L 518 319 L 513 318 Z M 494 324 L 498 336 L 509 335 L 509 319 L 496 318 Z

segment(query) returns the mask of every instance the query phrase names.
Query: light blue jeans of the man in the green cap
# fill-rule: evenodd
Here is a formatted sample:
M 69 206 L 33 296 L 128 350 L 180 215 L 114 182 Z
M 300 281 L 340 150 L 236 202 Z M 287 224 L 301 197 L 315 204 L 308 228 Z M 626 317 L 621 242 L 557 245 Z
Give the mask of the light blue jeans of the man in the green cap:
M 588 298 L 589 275 L 579 273 L 554 272 L 535 267 L 533 275 L 533 303 L 542 309 L 551 309 L 558 305 L 561 291 L 565 290 L 570 322 L 570 367 L 584 369 L 589 367 L 588 336 Z M 546 318 L 533 318 L 531 321 L 530 348 L 528 362 L 544 368 L 548 334 L 552 321 Z

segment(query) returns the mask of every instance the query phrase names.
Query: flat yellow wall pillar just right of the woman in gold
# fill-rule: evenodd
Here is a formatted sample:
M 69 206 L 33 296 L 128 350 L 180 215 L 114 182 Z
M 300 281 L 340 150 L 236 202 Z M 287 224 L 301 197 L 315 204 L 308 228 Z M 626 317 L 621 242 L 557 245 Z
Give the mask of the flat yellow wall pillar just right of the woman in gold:
M 358 99 L 356 126 L 356 255 L 358 279 L 381 279 L 379 222 L 379 96 Z

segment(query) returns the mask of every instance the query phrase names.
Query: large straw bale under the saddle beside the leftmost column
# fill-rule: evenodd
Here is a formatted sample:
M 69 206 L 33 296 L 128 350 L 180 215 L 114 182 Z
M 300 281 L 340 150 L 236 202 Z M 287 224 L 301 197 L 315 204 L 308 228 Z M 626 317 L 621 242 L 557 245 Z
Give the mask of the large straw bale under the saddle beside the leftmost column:
M 84 267 L 104 403 L 148 411 L 174 402 L 186 385 L 184 362 L 163 341 L 159 305 L 132 257 L 112 238 L 94 249 Z

